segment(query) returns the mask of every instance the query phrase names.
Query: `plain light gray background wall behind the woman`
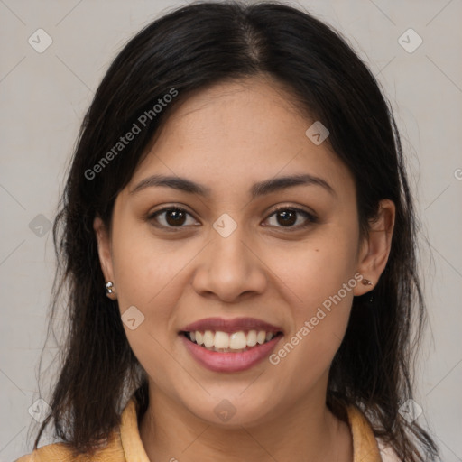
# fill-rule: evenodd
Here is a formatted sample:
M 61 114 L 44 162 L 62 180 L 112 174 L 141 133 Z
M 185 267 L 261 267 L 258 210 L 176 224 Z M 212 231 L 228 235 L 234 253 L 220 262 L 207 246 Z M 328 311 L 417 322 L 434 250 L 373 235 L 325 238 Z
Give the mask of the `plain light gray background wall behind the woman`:
M 421 348 L 419 422 L 446 462 L 462 460 L 461 0 L 300 1 L 334 25 L 373 69 L 391 100 L 417 197 L 420 262 L 431 330 Z M 176 5 L 166 1 L 0 0 L 0 462 L 32 449 L 28 409 L 48 397 L 57 353 L 38 361 L 54 273 L 51 231 L 79 124 L 109 63 L 143 25 Z M 39 53 L 42 28 L 52 39 Z M 415 51 L 398 39 L 412 28 Z M 42 32 L 41 32 L 42 33 Z M 409 36 L 409 38 L 408 38 Z M 44 36 L 41 36 L 44 43 Z M 417 38 L 405 34 L 406 46 Z M 42 46 L 41 45 L 41 46 Z M 38 46 L 38 44 L 36 45 Z M 47 437 L 42 444 L 49 442 Z

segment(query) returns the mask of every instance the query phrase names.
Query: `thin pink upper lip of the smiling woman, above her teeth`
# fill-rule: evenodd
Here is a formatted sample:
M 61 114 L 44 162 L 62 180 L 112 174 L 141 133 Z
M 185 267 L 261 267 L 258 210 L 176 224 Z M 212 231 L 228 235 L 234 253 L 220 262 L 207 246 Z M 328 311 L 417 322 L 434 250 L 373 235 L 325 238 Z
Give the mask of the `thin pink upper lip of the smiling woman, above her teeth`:
M 273 326 L 268 322 L 255 318 L 207 318 L 199 319 L 181 329 L 181 332 L 194 332 L 195 330 L 205 331 L 222 331 L 231 334 L 239 330 L 264 330 L 266 332 L 282 332 L 282 328 Z

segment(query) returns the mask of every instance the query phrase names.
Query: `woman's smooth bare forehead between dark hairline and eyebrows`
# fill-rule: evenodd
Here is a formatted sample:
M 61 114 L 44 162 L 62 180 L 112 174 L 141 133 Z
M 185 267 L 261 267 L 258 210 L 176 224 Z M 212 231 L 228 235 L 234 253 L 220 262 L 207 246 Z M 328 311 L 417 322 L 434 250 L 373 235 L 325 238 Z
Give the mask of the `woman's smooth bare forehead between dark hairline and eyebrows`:
M 354 189 L 327 142 L 305 132 L 315 122 L 293 95 L 268 79 L 222 82 L 186 98 L 169 115 L 130 185 L 148 174 L 188 177 L 211 189 L 310 173 L 338 191 Z

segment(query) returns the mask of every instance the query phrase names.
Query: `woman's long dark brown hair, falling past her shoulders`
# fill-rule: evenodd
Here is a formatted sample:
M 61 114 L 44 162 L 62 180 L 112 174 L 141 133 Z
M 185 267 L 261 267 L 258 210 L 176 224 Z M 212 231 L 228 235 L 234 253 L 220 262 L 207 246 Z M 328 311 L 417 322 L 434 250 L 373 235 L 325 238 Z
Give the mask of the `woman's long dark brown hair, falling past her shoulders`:
M 274 2 L 204 2 L 171 11 L 127 42 L 106 71 L 81 125 L 53 226 L 59 264 L 51 319 L 64 298 L 68 330 L 51 414 L 34 448 L 52 421 L 57 437 L 76 452 L 90 452 L 120 423 L 127 396 L 134 393 L 145 411 L 146 376 L 116 302 L 106 297 L 93 220 L 98 215 L 110 224 L 115 197 L 174 107 L 217 82 L 258 75 L 281 83 L 305 114 L 328 127 L 328 143 L 356 182 L 361 236 L 381 199 L 396 207 L 389 260 L 372 306 L 370 293 L 353 300 L 330 367 L 327 404 L 335 413 L 358 406 L 402 460 L 437 457 L 430 435 L 399 412 L 412 396 L 425 304 L 416 266 L 418 221 L 392 110 L 338 32 Z M 175 95 L 171 102 L 154 114 L 152 107 L 169 94 Z M 115 153 L 120 137 L 140 125 L 140 115 L 143 130 Z

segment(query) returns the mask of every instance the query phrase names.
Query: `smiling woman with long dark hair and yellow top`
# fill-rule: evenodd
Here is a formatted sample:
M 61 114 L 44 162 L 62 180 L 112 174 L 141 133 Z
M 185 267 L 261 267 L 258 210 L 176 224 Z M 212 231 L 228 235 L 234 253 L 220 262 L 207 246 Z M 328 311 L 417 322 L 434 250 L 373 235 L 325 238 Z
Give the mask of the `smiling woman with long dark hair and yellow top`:
M 374 77 L 309 14 L 193 4 L 139 32 L 80 132 L 69 337 L 19 460 L 436 459 L 400 412 L 424 319 L 403 165 Z

